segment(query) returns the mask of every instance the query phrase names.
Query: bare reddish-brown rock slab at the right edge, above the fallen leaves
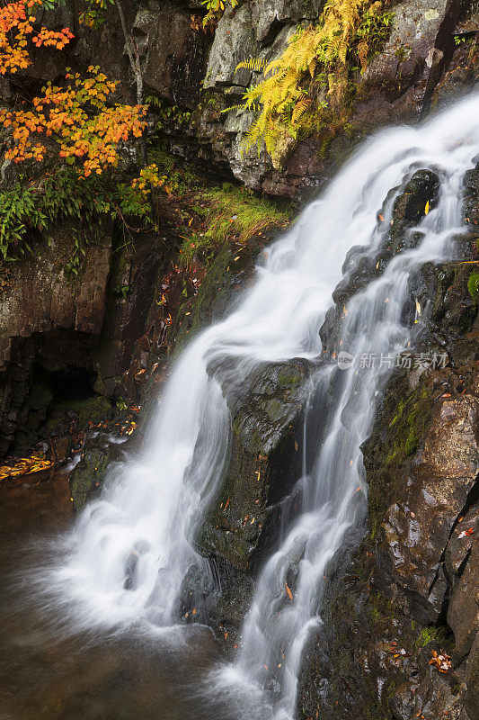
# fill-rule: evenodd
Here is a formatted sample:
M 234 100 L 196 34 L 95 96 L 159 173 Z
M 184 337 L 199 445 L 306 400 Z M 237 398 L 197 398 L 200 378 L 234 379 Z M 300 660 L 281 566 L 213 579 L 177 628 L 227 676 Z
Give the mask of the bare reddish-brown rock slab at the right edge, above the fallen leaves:
M 392 565 L 395 582 L 412 595 L 412 617 L 432 622 L 442 599 L 430 598 L 451 530 L 475 487 L 479 466 L 476 434 L 479 401 L 472 395 L 443 399 L 433 412 L 410 468 L 404 500 L 386 513 L 378 549 Z

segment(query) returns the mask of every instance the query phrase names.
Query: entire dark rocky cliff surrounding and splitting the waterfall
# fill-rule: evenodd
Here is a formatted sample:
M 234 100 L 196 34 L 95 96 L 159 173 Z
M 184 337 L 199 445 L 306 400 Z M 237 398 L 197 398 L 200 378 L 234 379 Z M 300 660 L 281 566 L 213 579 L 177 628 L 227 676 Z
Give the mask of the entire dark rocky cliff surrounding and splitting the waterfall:
M 254 71 L 236 73 L 236 65 L 249 57 L 276 57 L 290 34 L 314 22 L 322 6 L 314 0 L 245 2 L 228 6 L 211 32 L 195 20 L 206 12 L 196 0 L 125 4 L 146 93 L 164 103 L 156 105 L 161 141 L 178 162 L 194 157 L 205 182 L 235 178 L 256 191 L 304 197 L 372 130 L 418 121 L 474 85 L 475 4 L 404 0 L 392 4 L 385 47 L 355 78 L 347 126 L 332 137 L 302 141 L 280 168 L 264 152 L 243 157 L 241 140 L 252 118 L 238 109 L 221 112 L 255 81 Z M 121 96 L 130 98 L 118 21 L 112 14 L 102 30 L 89 31 L 77 26 L 77 10 L 67 4 L 47 18 L 55 26 L 64 24 L 67 14 L 75 28 L 78 39 L 65 64 L 113 71 L 122 80 Z M 39 85 L 56 76 L 58 62 L 39 53 L 22 81 Z M 4 81 L 2 93 L 8 102 L 12 87 Z M 305 718 L 473 720 L 479 713 L 477 178 L 473 172 L 466 182 L 464 218 L 471 233 L 458 246 L 457 261 L 423 266 L 414 279 L 413 294 L 428 308 L 428 325 L 413 338 L 413 351 L 446 353 L 448 363 L 396 374 L 384 389 L 363 448 L 368 520 L 328 573 L 325 624 L 307 649 L 301 677 L 298 709 Z M 382 250 L 386 255 L 403 249 L 406 230 L 420 217 L 424 199 L 433 198 L 434 187 L 430 171 L 404 186 L 394 233 Z M 197 211 L 185 208 L 196 200 L 183 199 L 180 215 L 171 208 L 174 202 L 173 197 L 159 208 L 156 228 L 143 229 L 134 243 L 125 242 L 119 227 L 105 225 L 73 276 L 66 273 L 75 253 L 68 224 L 55 229 L 49 247 L 40 239 L 37 256 L 22 258 L 14 272 L 2 265 L 0 453 L 38 439 L 49 412 L 65 403 L 66 386 L 77 383 L 95 401 L 106 399 L 103 414 L 120 398 L 145 400 L 146 389 L 151 396 L 174 337 L 182 344 L 220 317 L 249 282 L 254 257 L 270 233 L 247 248 L 235 242 L 216 248 L 208 264 L 196 259 L 194 277 L 177 261 L 187 224 L 181 215 L 196 218 Z M 361 264 L 360 257 L 350 261 L 334 293 L 337 307 L 377 270 Z M 331 352 L 336 323 L 333 309 L 322 329 Z M 192 572 L 182 611 L 191 609 L 200 588 L 199 617 L 215 627 L 219 639 L 226 632 L 226 653 L 234 654 L 255 572 L 274 544 L 297 479 L 299 428 L 313 369 L 299 360 L 265 365 L 244 387 L 227 392 L 225 386 L 233 420 L 231 460 L 195 538 L 215 568 L 221 592 L 217 582 L 205 590 Z M 73 400 L 67 398 L 67 404 Z M 108 447 L 84 449 L 72 475 L 78 509 L 109 459 Z M 445 658 L 442 668 L 441 661 L 430 664 L 439 656 Z

